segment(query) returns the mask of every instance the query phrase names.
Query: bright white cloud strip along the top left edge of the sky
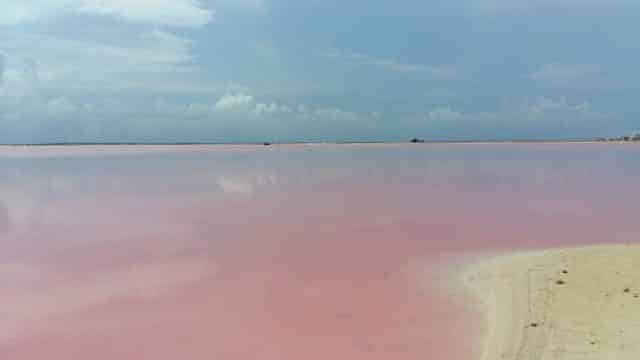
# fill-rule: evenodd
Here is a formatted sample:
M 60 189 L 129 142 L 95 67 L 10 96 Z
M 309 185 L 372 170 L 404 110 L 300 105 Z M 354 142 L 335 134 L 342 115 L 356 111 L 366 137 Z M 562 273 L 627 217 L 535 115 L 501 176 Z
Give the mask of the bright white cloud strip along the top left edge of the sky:
M 215 12 L 194 0 L 4 0 L 0 25 L 36 22 L 60 15 L 99 15 L 131 22 L 200 27 Z

